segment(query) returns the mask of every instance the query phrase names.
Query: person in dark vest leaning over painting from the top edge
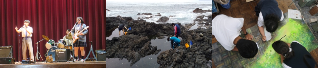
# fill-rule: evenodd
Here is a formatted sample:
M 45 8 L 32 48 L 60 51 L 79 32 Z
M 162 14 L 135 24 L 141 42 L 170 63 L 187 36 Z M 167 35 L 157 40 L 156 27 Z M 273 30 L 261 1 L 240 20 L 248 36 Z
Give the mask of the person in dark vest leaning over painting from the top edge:
M 260 0 L 255 6 L 255 13 L 258 16 L 257 25 L 263 41 L 271 40 L 270 32 L 276 31 L 278 21 L 284 19 L 283 11 L 278 8 L 276 0 Z

